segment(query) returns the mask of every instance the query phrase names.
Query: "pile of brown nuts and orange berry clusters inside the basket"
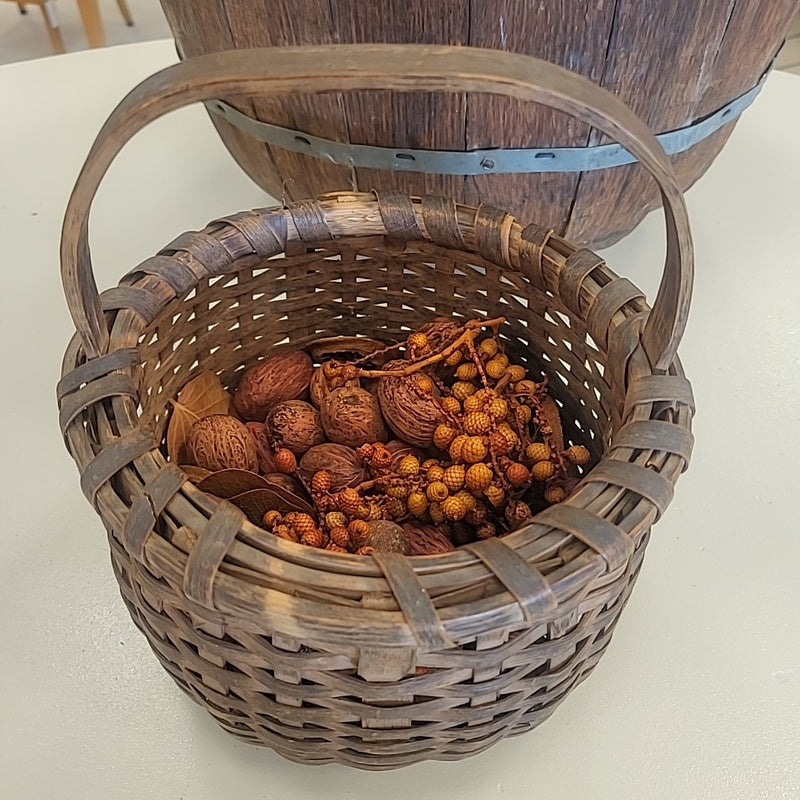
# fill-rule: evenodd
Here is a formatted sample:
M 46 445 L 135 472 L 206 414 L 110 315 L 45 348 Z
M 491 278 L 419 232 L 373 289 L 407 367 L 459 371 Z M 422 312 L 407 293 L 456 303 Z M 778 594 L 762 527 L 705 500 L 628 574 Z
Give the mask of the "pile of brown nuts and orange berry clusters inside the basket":
M 245 422 L 196 422 L 185 455 L 283 477 L 298 502 L 262 494 L 253 521 L 311 547 L 439 553 L 515 530 L 563 501 L 590 455 L 564 446 L 547 381 L 511 363 L 503 321 L 437 319 L 389 347 L 348 338 L 269 356 L 233 395 Z

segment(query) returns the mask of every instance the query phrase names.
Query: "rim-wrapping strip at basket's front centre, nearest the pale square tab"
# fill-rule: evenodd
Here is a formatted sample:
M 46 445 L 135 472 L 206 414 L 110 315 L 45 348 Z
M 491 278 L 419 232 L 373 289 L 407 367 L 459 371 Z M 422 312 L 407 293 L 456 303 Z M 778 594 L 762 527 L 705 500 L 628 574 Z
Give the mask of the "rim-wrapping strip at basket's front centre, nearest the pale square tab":
M 399 553 L 373 553 L 372 557 L 386 576 L 420 646 L 434 651 L 452 647 L 453 640 L 447 635 L 436 608 L 406 557 Z

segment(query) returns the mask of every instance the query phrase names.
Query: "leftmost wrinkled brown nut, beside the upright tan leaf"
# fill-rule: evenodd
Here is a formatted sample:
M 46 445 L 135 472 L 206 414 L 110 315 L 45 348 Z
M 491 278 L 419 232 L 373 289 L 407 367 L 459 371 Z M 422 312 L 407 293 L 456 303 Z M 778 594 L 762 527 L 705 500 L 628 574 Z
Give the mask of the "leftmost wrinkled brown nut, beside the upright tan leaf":
M 258 451 L 253 435 L 236 417 L 212 414 L 197 420 L 186 442 L 189 458 L 198 467 L 258 471 Z

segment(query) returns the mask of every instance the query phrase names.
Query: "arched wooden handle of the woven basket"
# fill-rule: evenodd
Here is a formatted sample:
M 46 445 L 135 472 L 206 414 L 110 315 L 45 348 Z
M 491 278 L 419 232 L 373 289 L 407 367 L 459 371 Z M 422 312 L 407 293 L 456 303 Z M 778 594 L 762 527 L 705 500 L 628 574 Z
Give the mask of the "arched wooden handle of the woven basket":
M 395 89 L 486 92 L 564 111 L 613 137 L 653 176 L 667 226 L 664 274 L 642 332 L 652 365 L 666 369 L 683 335 L 694 253 L 683 194 L 655 136 L 617 97 L 580 75 L 530 56 L 473 47 L 322 45 L 232 50 L 187 59 L 134 88 L 103 125 L 67 204 L 61 275 L 86 355 L 108 346 L 88 242 L 92 200 L 117 153 L 154 119 L 226 95 Z

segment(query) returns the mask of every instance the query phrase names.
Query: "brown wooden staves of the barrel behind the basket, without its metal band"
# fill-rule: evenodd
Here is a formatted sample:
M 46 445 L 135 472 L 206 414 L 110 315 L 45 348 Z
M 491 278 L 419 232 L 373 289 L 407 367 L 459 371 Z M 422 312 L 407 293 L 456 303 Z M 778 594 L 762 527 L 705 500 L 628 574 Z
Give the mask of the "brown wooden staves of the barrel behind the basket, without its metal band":
M 656 133 L 690 126 L 756 85 L 796 0 L 162 0 L 183 56 L 246 47 L 388 42 L 469 44 L 560 64 L 615 92 Z M 481 94 L 360 91 L 223 98 L 251 118 L 338 142 L 471 151 L 605 142 L 566 115 Z M 268 145 L 212 114 L 242 168 L 274 197 L 395 189 L 489 203 L 577 243 L 608 245 L 658 205 L 636 164 L 596 171 L 442 175 L 340 166 Z M 672 157 L 682 188 L 735 125 Z M 614 198 L 609 201 L 609 198 Z

